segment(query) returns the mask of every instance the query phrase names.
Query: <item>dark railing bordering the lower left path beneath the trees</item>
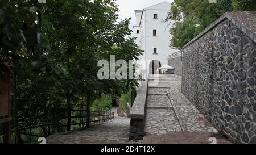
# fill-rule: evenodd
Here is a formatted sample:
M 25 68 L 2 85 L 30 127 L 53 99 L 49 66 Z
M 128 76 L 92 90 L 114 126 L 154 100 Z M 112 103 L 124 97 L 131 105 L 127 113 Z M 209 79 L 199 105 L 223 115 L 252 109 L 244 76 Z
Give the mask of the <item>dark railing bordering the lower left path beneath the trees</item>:
M 36 139 L 32 140 L 31 137 L 47 137 L 53 133 L 66 132 L 67 127 L 71 130 L 85 128 L 87 123 L 87 111 L 86 110 L 70 110 L 71 116 L 68 116 L 69 110 L 61 108 L 52 108 L 51 122 L 49 124 L 35 125 L 26 128 L 19 129 L 20 135 L 27 137 L 29 143 L 33 141 L 36 142 Z M 68 118 L 71 119 L 71 123 L 68 124 Z M 110 111 L 90 111 L 89 124 L 90 127 L 93 127 L 97 123 L 106 122 L 108 120 L 114 119 L 114 112 Z

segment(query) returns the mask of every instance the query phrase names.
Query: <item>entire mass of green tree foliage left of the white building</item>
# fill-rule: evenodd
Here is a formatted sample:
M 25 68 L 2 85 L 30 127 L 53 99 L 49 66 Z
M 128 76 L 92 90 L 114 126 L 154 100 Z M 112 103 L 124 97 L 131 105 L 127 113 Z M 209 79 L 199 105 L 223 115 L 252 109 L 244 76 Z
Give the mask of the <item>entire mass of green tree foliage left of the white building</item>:
M 91 103 L 106 102 L 103 110 L 109 108 L 104 98 L 138 86 L 135 80 L 97 78 L 98 60 L 115 55 L 128 62 L 142 54 L 130 19 L 117 22 L 114 1 L 0 1 L 1 74 L 14 75 L 15 122 L 22 127 L 49 123 L 53 107 L 84 109 L 88 91 Z

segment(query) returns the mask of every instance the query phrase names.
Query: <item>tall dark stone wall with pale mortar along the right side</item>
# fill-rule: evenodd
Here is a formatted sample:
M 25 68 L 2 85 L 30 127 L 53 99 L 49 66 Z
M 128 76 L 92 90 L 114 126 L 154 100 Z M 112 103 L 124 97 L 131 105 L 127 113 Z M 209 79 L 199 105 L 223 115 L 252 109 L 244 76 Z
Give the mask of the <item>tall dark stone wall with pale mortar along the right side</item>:
M 235 143 L 256 143 L 255 23 L 226 13 L 183 47 L 182 92 Z

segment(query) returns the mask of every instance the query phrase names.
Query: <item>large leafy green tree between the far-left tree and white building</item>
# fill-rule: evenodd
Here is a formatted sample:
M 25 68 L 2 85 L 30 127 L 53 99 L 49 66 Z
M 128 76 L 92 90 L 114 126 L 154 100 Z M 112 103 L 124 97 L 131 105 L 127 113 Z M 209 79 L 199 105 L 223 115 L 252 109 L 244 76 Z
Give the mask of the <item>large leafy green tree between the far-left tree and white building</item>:
M 55 27 L 49 40 L 54 43 L 54 55 L 68 73 L 60 79 L 58 89 L 63 92 L 69 110 L 76 96 L 86 92 L 95 99 L 101 94 L 119 95 L 127 86 L 137 86 L 137 81 L 99 81 L 97 78 L 98 60 L 109 60 L 110 55 L 133 60 L 141 54 L 134 38 L 126 38 L 131 35 L 130 20 L 117 23 L 118 8 L 113 1 L 51 1 L 46 6 L 46 17 Z

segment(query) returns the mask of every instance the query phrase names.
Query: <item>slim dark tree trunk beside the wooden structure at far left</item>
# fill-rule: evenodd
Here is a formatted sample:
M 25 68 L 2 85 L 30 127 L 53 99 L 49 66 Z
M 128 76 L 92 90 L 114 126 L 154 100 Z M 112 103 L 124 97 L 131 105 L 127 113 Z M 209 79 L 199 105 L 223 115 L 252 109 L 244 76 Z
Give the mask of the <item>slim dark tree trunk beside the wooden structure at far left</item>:
M 22 144 L 22 138 L 19 133 L 19 123 L 18 123 L 18 105 L 16 103 L 16 75 L 13 77 L 13 122 L 14 122 L 14 132 L 16 136 L 16 143 Z

